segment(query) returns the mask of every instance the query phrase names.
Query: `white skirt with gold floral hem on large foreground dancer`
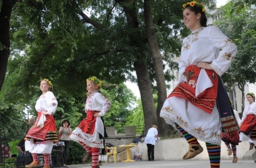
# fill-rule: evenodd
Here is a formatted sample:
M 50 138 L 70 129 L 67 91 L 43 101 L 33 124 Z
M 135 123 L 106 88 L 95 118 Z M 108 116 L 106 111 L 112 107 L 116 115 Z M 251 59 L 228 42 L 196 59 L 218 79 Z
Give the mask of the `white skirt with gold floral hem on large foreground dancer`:
M 208 114 L 186 99 L 174 96 L 165 100 L 160 117 L 174 128 L 177 123 L 198 140 L 216 145 L 221 144 L 221 122 L 216 104 L 212 113 Z

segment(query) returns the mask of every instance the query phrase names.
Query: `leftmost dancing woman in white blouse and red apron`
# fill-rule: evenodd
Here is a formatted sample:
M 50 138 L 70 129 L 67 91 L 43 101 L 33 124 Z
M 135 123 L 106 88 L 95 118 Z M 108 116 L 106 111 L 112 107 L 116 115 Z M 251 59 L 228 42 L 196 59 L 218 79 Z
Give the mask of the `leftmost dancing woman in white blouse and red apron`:
M 56 125 L 53 114 L 57 109 L 58 102 L 52 92 L 52 83 L 48 79 L 44 79 L 40 83 L 42 95 L 36 101 L 36 111 L 38 117 L 36 124 L 30 128 L 25 137 L 26 151 L 32 153 L 33 162 L 26 165 L 26 168 L 38 167 L 37 154 L 44 154 L 44 168 L 50 168 L 50 153 L 52 146 L 58 142 L 56 134 Z

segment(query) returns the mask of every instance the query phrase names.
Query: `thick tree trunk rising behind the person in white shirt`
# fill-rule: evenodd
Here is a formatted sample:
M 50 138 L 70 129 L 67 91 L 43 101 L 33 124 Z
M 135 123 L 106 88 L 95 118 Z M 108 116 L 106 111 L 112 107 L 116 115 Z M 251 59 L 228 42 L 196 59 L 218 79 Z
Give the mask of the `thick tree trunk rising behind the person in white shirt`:
M 132 41 L 134 47 L 140 48 L 140 56 L 138 56 L 137 60 L 134 62 L 134 68 L 136 70 L 138 87 L 140 90 L 140 97 L 145 122 L 145 131 L 147 131 L 149 128 L 152 127 L 153 124 L 157 125 L 158 123 L 152 93 L 152 81 L 150 80 L 148 66 L 146 62 L 144 62 L 144 60 L 147 59 L 146 55 L 144 54 L 144 49 L 142 48 L 142 46 L 144 46 L 144 43 L 141 39 L 135 1 L 116 2 L 120 3 L 123 6 L 128 26 L 136 30 L 134 31 L 134 33 L 130 34 L 129 38 Z

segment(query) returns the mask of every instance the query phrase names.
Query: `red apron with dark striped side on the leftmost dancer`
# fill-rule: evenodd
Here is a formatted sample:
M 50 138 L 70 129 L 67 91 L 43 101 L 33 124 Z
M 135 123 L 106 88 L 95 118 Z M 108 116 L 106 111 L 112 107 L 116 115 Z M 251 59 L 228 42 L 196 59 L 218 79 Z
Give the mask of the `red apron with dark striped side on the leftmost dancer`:
M 46 121 L 44 122 L 44 126 L 40 128 L 40 126 L 37 126 L 37 123 L 41 115 L 42 113 L 38 112 L 36 123 L 28 131 L 25 140 L 30 140 L 30 138 L 33 138 L 35 144 L 58 142 L 54 117 L 52 115 L 45 115 Z

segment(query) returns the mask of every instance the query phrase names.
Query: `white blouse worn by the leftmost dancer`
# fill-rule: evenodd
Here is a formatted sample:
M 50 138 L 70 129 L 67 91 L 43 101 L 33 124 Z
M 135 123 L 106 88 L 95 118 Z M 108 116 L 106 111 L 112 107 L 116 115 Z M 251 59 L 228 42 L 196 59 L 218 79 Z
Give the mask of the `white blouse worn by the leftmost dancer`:
M 56 112 L 58 102 L 54 94 L 50 91 L 42 94 L 36 101 L 36 111 L 42 112 L 47 111 L 48 114 L 52 115 Z

